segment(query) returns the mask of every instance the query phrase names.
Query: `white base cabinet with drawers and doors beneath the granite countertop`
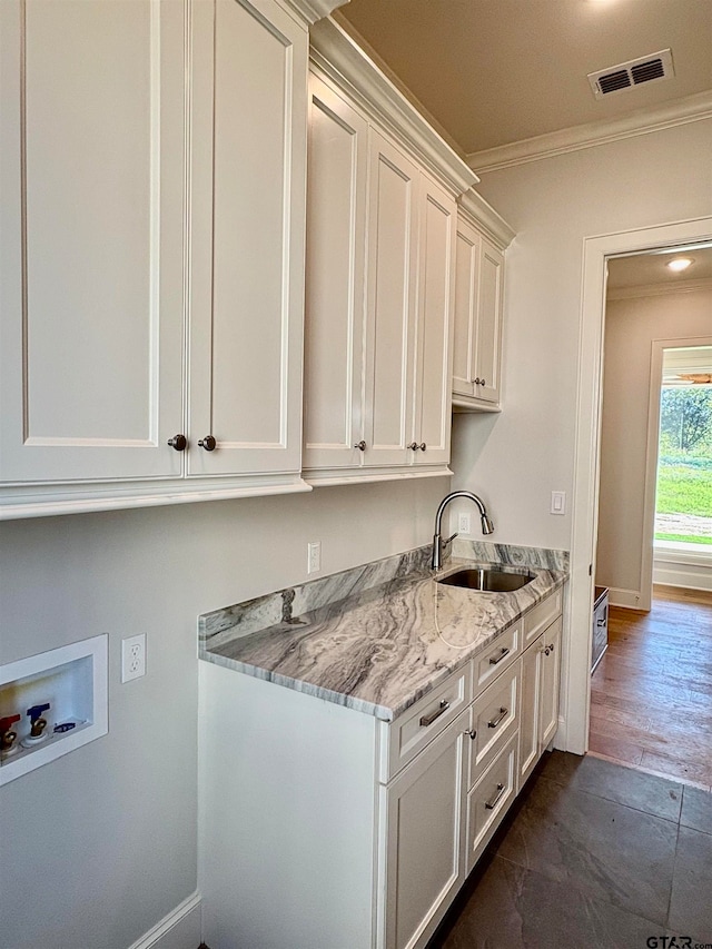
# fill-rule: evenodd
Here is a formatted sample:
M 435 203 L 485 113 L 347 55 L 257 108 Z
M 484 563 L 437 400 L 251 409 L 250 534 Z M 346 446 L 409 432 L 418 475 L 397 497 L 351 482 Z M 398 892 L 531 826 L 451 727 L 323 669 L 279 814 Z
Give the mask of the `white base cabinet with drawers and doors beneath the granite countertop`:
M 560 614 L 556 591 L 390 723 L 201 661 L 206 943 L 423 949 L 553 738 Z

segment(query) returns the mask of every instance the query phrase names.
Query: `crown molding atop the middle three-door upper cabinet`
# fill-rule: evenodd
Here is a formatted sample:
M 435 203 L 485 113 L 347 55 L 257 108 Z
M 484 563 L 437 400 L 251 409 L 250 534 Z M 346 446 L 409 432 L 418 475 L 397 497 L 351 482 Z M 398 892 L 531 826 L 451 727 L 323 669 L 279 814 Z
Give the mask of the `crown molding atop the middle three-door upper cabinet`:
M 313 63 L 357 102 L 367 116 L 406 145 L 454 196 L 479 180 L 370 57 L 330 17 L 315 23 L 309 38 Z

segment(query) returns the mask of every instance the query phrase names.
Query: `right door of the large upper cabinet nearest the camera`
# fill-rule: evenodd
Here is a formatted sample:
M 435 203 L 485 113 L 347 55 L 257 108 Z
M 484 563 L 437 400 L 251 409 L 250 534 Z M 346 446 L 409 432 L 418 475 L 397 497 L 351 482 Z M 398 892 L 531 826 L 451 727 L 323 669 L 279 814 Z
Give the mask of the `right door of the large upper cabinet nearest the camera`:
M 188 473 L 297 472 L 306 27 L 271 0 L 192 4 Z

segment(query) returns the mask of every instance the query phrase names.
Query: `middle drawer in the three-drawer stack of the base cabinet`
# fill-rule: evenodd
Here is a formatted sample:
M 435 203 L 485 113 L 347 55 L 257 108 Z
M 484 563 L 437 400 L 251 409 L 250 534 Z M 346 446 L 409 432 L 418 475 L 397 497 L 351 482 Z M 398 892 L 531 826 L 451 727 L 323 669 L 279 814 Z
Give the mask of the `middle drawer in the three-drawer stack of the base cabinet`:
M 515 663 L 485 689 L 473 704 L 468 788 L 512 737 L 518 719 L 520 664 Z

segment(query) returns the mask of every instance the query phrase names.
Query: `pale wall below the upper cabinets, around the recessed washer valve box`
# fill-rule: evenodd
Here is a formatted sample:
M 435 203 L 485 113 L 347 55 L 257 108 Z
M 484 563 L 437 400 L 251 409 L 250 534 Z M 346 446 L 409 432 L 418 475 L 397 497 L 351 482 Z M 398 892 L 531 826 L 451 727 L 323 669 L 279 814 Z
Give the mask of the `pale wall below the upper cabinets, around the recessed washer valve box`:
M 2 790 L 0 945 L 123 949 L 196 889 L 199 613 L 427 543 L 447 478 L 6 522 L 0 662 L 109 634 L 109 734 Z M 147 675 L 120 684 L 120 640 Z

